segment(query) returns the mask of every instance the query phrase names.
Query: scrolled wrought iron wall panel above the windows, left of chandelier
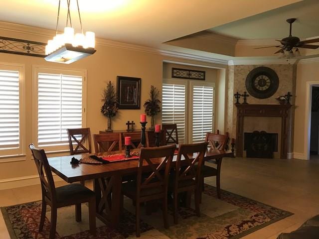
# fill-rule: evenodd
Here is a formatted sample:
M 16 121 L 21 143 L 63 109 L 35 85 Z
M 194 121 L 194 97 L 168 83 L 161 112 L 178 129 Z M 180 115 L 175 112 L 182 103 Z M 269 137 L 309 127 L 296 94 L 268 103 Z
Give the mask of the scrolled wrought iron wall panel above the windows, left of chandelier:
M 0 52 L 45 57 L 45 43 L 0 36 Z

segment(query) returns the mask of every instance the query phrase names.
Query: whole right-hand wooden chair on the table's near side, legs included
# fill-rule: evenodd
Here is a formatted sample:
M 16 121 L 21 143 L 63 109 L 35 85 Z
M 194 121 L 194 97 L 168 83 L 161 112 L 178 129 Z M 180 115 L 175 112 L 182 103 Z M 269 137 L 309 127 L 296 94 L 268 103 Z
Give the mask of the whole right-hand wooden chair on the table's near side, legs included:
M 180 144 L 176 158 L 175 171 L 172 172 L 172 180 L 169 181 L 169 190 L 173 193 L 173 217 L 174 223 L 178 223 L 178 194 L 186 192 L 186 207 L 190 207 L 191 193 L 195 194 L 195 212 L 200 217 L 200 174 L 201 166 L 208 142 Z M 195 155 L 195 157 L 194 157 Z M 182 159 L 183 158 L 183 159 Z

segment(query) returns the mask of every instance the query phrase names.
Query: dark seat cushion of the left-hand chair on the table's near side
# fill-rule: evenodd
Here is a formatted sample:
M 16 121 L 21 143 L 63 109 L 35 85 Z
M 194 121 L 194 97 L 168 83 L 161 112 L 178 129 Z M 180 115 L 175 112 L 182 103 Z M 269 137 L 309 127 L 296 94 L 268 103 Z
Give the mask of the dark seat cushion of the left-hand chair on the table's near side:
M 124 195 L 128 196 L 129 198 L 135 199 L 136 198 L 136 191 L 137 191 L 137 184 L 136 181 L 131 181 L 122 184 L 122 192 Z M 141 189 L 140 196 L 146 197 L 150 195 L 160 194 L 163 193 L 162 187 L 156 188 L 143 188 Z

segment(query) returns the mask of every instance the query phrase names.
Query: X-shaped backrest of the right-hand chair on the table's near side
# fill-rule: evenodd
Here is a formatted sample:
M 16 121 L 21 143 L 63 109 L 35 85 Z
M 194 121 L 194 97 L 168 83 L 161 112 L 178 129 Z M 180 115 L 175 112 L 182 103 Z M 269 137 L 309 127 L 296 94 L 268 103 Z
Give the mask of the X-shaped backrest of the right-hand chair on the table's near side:
M 196 182 L 198 181 L 207 145 L 208 142 L 179 145 L 175 167 L 176 184 L 182 180 L 193 178 L 195 178 Z M 183 162 L 181 162 L 182 159 Z M 197 170 L 195 164 L 197 164 Z

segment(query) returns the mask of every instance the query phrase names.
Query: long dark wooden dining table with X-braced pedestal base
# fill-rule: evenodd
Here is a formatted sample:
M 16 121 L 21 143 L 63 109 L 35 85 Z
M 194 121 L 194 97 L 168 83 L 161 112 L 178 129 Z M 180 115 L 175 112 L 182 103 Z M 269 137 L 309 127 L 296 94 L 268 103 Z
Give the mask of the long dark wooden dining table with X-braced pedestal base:
M 113 152 L 119 153 L 119 151 Z M 97 153 L 96 156 L 109 155 L 109 153 Z M 68 183 L 94 180 L 94 192 L 96 194 L 97 217 L 104 223 L 110 223 L 117 227 L 120 222 L 122 202 L 122 178 L 137 173 L 139 159 L 110 162 L 107 164 L 70 164 L 71 158 L 81 159 L 88 154 L 49 157 L 48 162 L 52 172 Z M 196 156 L 195 154 L 193 155 Z M 233 157 L 231 151 L 207 149 L 204 160 L 216 160 L 221 163 L 224 157 Z M 173 162 L 176 160 L 174 155 Z M 163 158 L 154 158 L 154 164 L 160 164 Z M 112 197 L 110 197 L 112 193 Z

